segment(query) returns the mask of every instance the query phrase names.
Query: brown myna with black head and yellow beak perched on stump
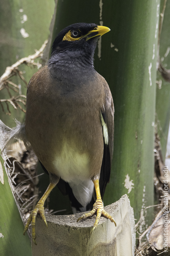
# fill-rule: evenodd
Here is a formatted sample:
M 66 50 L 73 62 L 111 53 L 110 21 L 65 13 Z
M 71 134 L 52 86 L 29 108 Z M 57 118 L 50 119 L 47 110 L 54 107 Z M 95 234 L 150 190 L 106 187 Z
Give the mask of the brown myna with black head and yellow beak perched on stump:
M 106 80 L 93 66 L 97 40 L 109 30 L 94 23 L 76 23 L 58 34 L 47 65 L 28 84 L 25 124 L 8 134 L 7 143 L 22 139 L 50 176 L 24 229 L 25 234 L 32 221 L 35 244 L 36 215 L 47 226 L 44 201 L 56 184 L 69 194 L 74 212 L 90 210 L 94 203 L 77 220 L 97 211 L 92 232 L 101 214 L 115 223 L 102 202 L 113 154 L 114 107 Z

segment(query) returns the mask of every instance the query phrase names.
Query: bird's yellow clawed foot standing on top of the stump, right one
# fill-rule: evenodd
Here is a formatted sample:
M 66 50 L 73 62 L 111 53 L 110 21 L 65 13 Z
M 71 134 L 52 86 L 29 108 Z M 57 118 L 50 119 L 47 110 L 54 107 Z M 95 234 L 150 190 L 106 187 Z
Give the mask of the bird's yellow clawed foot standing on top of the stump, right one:
M 87 217 L 90 217 L 90 216 L 93 216 L 94 213 L 97 211 L 97 216 L 96 216 L 96 219 L 95 219 L 95 223 L 94 223 L 94 226 L 93 226 L 93 229 L 91 231 L 91 234 L 93 234 L 93 231 L 96 229 L 98 223 L 99 223 L 99 220 L 100 220 L 100 217 L 101 215 L 105 216 L 106 218 L 110 219 L 111 222 L 114 222 L 115 226 L 116 226 L 116 222 L 115 220 L 113 219 L 113 217 L 107 213 L 105 210 L 104 210 L 104 207 L 103 207 L 103 202 L 102 202 L 102 199 L 97 199 L 96 200 L 96 203 L 94 203 L 93 205 L 93 209 L 91 211 L 89 211 L 88 213 L 85 213 L 83 214 L 80 218 L 78 218 L 77 222 L 81 219 L 85 219 Z

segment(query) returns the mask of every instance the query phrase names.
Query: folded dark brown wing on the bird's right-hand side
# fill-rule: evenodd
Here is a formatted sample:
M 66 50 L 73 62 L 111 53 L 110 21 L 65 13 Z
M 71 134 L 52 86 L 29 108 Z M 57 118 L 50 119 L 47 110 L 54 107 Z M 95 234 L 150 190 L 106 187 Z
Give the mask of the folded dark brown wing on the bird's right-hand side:
M 99 180 L 100 193 L 101 193 L 102 199 L 105 193 L 106 185 L 110 179 L 111 162 L 113 157 L 113 134 L 114 134 L 113 99 L 109 89 L 109 85 L 106 82 L 106 80 L 104 80 L 104 91 L 105 91 L 106 103 L 102 111 L 102 116 L 108 128 L 109 143 L 107 145 L 104 139 L 103 161 L 102 161 L 100 180 Z

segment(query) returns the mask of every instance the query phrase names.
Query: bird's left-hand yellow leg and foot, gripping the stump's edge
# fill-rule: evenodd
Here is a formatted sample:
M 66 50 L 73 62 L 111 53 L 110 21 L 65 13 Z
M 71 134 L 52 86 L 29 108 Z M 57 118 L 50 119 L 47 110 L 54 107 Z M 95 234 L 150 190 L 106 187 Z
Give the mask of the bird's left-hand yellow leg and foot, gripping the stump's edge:
M 41 199 L 38 201 L 38 203 L 36 204 L 35 209 L 31 212 L 27 224 L 25 225 L 24 228 L 24 236 L 25 236 L 25 232 L 27 232 L 29 225 L 31 224 L 32 221 L 32 238 L 33 241 L 36 244 L 36 231 L 35 231 L 35 227 L 36 227 L 36 215 L 37 213 L 40 214 L 41 218 L 43 219 L 43 221 L 45 222 L 45 225 L 47 226 L 47 221 L 44 215 L 44 202 L 47 199 L 48 195 L 50 194 L 50 192 L 52 191 L 52 189 L 56 186 L 56 184 L 54 183 L 50 183 L 50 185 L 48 186 L 47 190 L 45 191 L 45 193 L 43 194 L 43 196 L 41 197 Z

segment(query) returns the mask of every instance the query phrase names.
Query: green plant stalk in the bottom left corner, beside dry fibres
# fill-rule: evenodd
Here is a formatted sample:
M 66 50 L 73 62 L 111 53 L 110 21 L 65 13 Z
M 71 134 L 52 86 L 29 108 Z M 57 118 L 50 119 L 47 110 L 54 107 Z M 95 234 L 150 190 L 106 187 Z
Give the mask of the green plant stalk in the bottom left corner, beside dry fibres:
M 31 242 L 27 234 L 23 236 L 24 224 L 12 195 L 2 157 L 0 161 L 4 173 L 4 184 L 0 181 L 0 255 L 31 256 Z

